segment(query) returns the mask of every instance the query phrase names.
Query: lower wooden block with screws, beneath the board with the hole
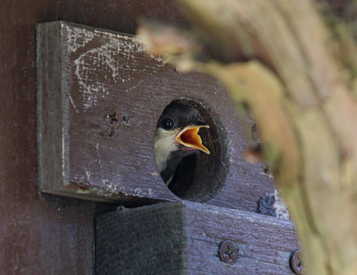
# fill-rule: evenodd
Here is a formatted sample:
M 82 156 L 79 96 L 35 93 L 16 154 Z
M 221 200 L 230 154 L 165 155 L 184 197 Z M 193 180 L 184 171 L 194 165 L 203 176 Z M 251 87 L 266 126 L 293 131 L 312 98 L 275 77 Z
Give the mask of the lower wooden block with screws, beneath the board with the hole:
M 299 248 L 290 221 L 187 201 L 102 214 L 96 219 L 96 274 L 293 274 Z M 233 265 L 218 257 L 231 240 Z

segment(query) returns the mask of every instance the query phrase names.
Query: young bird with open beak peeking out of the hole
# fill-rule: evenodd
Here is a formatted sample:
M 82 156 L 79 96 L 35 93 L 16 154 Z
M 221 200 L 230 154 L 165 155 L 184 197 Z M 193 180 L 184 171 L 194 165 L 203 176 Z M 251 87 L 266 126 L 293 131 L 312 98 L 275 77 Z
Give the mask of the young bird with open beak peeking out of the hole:
M 197 134 L 200 128 L 209 128 L 198 118 L 193 107 L 171 102 L 162 112 L 156 126 L 155 158 L 157 168 L 166 185 L 183 158 L 197 151 L 210 154 Z

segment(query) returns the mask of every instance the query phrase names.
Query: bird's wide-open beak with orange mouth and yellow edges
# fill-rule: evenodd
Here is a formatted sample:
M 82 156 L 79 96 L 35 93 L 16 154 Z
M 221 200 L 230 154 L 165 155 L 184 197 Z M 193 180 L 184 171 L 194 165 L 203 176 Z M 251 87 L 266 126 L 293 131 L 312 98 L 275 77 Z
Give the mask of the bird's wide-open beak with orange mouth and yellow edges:
M 201 137 L 197 134 L 200 128 L 210 128 L 207 124 L 203 122 L 198 122 L 198 125 L 190 125 L 183 128 L 180 133 L 178 133 L 175 139 L 186 147 L 192 148 L 193 150 L 200 150 L 206 154 L 210 154 L 210 151 L 202 145 Z

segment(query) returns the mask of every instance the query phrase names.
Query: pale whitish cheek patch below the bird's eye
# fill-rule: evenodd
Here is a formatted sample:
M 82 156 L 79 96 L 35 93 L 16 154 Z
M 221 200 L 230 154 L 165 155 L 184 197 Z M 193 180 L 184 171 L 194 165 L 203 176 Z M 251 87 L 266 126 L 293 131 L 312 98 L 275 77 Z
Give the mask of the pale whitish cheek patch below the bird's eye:
M 155 133 L 155 159 L 159 172 L 166 167 L 166 161 L 171 152 L 176 150 L 175 134 L 172 131 L 165 131 L 157 128 Z

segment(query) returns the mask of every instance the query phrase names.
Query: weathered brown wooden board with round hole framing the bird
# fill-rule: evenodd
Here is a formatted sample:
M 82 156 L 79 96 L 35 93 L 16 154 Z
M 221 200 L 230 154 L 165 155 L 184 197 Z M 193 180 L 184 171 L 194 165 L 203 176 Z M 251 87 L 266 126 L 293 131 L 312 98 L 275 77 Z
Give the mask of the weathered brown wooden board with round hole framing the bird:
M 251 133 L 226 92 L 202 73 L 146 56 L 134 36 L 62 21 L 37 26 L 39 190 L 106 202 L 181 198 L 255 211 L 273 192 L 262 165 L 243 160 Z M 154 135 L 172 100 L 192 105 L 211 155 L 172 193 L 157 171 Z M 187 191 L 187 192 L 186 192 Z

